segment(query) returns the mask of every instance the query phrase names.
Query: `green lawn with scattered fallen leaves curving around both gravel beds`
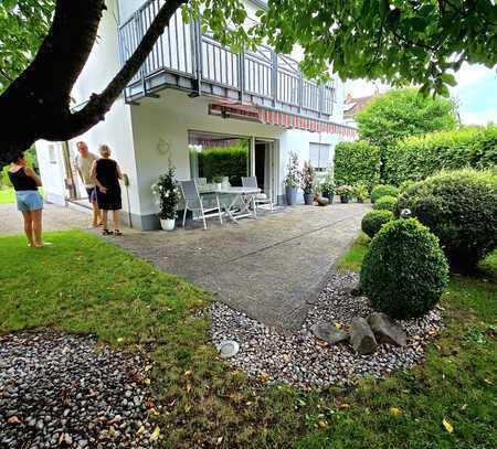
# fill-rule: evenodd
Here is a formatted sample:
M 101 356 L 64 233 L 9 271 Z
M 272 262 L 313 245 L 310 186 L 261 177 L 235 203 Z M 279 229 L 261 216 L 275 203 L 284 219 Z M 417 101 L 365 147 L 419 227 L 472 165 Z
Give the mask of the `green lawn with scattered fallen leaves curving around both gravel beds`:
M 304 392 L 255 385 L 219 361 L 209 320 L 192 316 L 210 297 L 192 285 L 83 232 L 49 238 L 53 246 L 32 249 L 0 237 L 0 331 L 51 325 L 146 352 L 165 447 L 497 446 L 497 255 L 478 276 L 453 277 L 447 327 L 424 366 Z M 367 244 L 351 248 L 348 267 L 360 266 Z

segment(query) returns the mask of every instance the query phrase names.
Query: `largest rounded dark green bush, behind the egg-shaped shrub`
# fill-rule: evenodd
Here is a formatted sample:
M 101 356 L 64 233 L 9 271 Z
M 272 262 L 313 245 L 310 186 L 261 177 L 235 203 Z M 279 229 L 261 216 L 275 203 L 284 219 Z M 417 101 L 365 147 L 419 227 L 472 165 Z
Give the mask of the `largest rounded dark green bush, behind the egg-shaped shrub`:
M 417 182 L 399 199 L 398 212 L 412 216 L 440 238 L 456 271 L 473 270 L 497 246 L 497 173 L 442 172 Z

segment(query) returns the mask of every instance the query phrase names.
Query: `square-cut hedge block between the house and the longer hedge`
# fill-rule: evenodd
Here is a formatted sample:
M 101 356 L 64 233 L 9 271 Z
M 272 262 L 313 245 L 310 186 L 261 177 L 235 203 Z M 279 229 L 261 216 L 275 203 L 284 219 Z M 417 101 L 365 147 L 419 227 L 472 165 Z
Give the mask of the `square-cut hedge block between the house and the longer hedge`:
M 335 149 L 335 182 L 362 182 L 371 191 L 380 182 L 380 149 L 366 141 L 340 142 Z

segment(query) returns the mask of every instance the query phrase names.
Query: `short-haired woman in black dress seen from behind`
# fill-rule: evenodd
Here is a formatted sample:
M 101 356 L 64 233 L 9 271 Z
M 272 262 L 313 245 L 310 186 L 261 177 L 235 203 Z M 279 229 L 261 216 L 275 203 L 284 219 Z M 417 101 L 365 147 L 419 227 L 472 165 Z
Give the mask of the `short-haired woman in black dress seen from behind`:
M 93 162 L 92 177 L 95 179 L 97 185 L 96 199 L 98 209 L 102 211 L 102 223 L 104 225 L 102 234 L 123 235 L 119 231 L 119 211 L 123 209 L 119 180 L 123 179 L 123 173 L 120 172 L 118 163 L 110 159 L 110 148 L 108 148 L 108 146 L 101 145 L 98 151 L 102 158 Z M 108 229 L 108 211 L 113 211 L 114 232 Z

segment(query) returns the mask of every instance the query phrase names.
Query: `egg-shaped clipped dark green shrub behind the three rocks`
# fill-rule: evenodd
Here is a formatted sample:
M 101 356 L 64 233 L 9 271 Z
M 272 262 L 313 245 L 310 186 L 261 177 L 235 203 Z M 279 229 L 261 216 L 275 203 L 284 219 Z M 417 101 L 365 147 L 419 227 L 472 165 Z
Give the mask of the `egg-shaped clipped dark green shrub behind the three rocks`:
M 425 314 L 448 281 L 438 239 L 415 218 L 387 223 L 362 261 L 360 287 L 374 310 L 396 319 Z

